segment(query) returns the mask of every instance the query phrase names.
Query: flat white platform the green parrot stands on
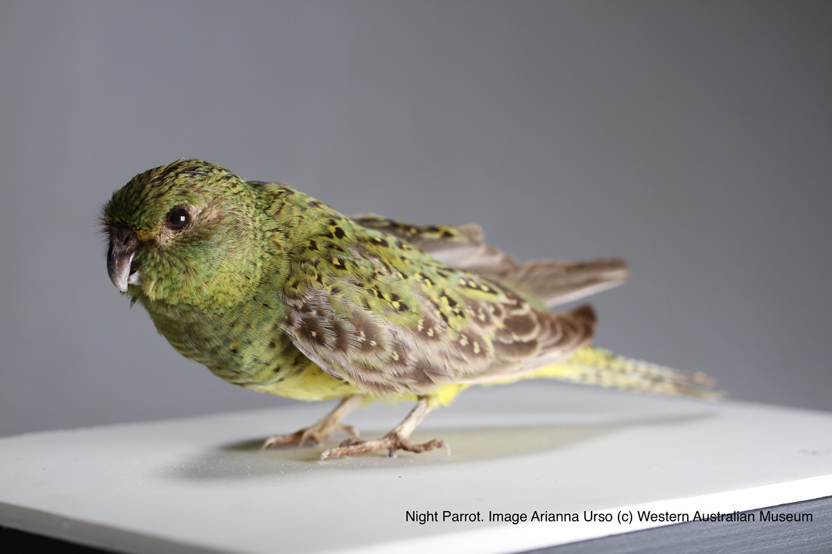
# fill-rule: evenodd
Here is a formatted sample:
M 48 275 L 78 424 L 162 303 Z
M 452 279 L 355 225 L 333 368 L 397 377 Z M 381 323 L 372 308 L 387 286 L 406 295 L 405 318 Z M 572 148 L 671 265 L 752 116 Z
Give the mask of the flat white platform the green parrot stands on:
M 470 390 L 430 414 L 414 439 L 446 439 L 451 456 L 259 451 L 330 405 L 0 439 L 0 525 L 122 552 L 520 552 L 662 524 L 618 521 L 637 509 L 692 516 L 832 495 L 832 413 L 551 382 Z M 408 409 L 375 404 L 348 420 L 370 438 Z M 442 522 L 443 511 L 486 522 Z M 513 525 L 489 511 L 613 522 Z

